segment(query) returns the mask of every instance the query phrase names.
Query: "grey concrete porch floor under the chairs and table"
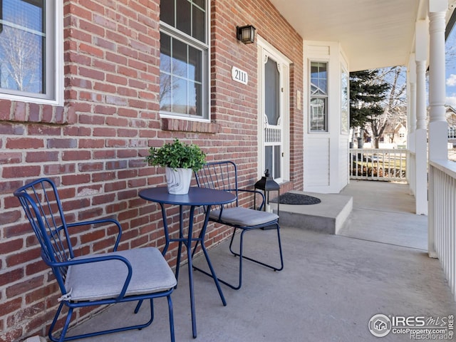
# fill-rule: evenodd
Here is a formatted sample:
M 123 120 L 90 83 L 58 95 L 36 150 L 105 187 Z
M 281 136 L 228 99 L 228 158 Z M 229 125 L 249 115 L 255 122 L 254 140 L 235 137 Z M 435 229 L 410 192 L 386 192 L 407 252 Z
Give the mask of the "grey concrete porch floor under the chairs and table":
M 274 272 L 246 261 L 242 289 L 222 285 L 227 306 L 222 306 L 212 279 L 195 271 L 196 340 L 183 266 L 172 294 L 176 341 L 410 341 L 408 335 L 393 333 L 376 338 L 368 331 L 368 321 L 375 314 L 426 318 L 455 314 L 439 261 L 425 251 L 427 217 L 413 214 L 414 199 L 407 189 L 407 185 L 352 181 L 341 194 L 353 196 L 353 212 L 338 235 L 281 227 L 284 270 Z M 271 238 L 273 231 L 246 234 L 245 253 L 274 261 Z M 209 254 L 217 275 L 234 279 L 238 263 L 227 243 Z M 195 264 L 204 265 L 203 259 L 197 258 Z M 74 330 L 144 321 L 148 305 L 137 315 L 133 309 L 133 304 L 113 306 Z M 167 319 L 166 301 L 158 299 L 155 321 L 148 328 L 85 341 L 170 341 Z

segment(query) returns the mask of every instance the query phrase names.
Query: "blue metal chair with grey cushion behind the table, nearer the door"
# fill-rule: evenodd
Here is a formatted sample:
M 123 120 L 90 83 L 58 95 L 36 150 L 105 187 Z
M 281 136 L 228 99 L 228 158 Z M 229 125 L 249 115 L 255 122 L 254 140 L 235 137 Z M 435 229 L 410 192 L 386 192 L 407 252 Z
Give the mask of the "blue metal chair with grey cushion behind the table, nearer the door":
M 210 187 L 212 189 L 223 190 L 228 192 L 233 192 L 237 199 L 235 202 L 218 205 L 212 207 L 209 212 L 209 220 L 212 222 L 217 222 L 220 224 L 226 224 L 227 226 L 233 227 L 231 241 L 229 242 L 229 251 L 236 257 L 239 257 L 239 280 L 237 284 L 230 284 L 227 281 L 219 279 L 222 284 L 229 286 L 234 290 L 238 290 L 242 286 L 242 260 L 247 259 L 249 261 L 254 261 L 257 264 L 262 266 L 269 267 L 274 271 L 281 271 L 284 269 L 284 258 L 282 257 L 282 247 L 280 240 L 280 227 L 279 227 L 279 216 L 271 213 L 261 211 L 264 205 L 264 195 L 258 190 L 247 190 L 239 189 L 237 183 L 237 166 L 234 162 L 231 161 L 221 161 L 221 162 L 208 162 L 202 170 L 195 172 L 195 177 L 197 180 L 197 185 L 199 187 Z M 242 192 L 251 192 L 256 195 L 261 195 L 262 202 L 259 207 L 250 209 L 245 207 L 239 207 L 239 193 Z M 280 255 L 280 266 L 273 266 L 271 264 L 266 264 L 263 261 L 254 259 L 252 257 L 246 257 L 244 255 L 244 234 L 252 231 L 253 229 L 259 228 L 268 228 L 276 229 L 277 232 L 277 243 L 279 247 Z M 234 252 L 232 246 L 234 241 L 234 236 L 238 231 L 241 231 L 239 239 L 239 252 Z M 195 254 L 197 246 L 193 253 Z M 211 274 L 206 271 L 199 269 L 194 266 L 195 269 L 201 271 L 204 274 L 210 276 Z

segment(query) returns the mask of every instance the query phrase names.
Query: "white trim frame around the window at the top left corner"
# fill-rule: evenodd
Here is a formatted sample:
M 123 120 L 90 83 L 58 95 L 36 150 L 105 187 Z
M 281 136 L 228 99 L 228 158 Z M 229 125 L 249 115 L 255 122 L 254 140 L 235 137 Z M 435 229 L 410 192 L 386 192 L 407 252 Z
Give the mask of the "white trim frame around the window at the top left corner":
M 46 1 L 46 6 L 53 4 L 47 11 L 46 32 L 53 32 L 46 37 L 46 56 L 52 56 L 53 61 L 46 58 L 46 94 L 22 93 L 16 95 L 3 93 L 0 88 L 0 99 L 28 103 L 63 105 L 63 1 Z

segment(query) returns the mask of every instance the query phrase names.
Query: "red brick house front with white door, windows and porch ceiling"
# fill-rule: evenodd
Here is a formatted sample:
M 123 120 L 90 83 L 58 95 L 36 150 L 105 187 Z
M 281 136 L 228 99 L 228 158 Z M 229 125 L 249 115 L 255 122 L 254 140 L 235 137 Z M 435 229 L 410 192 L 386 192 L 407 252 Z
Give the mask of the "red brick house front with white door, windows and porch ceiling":
M 144 157 L 174 138 L 208 160 L 237 162 L 241 187 L 269 169 L 281 192 L 339 192 L 348 183 L 348 73 L 408 65 L 415 75 L 415 53 L 422 62 L 429 51 L 411 42 L 434 37 L 421 29 L 427 5 L 438 14 L 431 24 L 451 14 L 440 0 L 1 3 L 0 342 L 43 335 L 57 305 L 18 187 L 52 178 L 68 221 L 119 219 L 123 249 L 162 244 L 160 210 L 138 192 L 164 185 Z M 254 43 L 237 38 L 246 25 Z M 209 229 L 212 245 L 228 235 Z M 77 234 L 78 247 L 102 251 L 107 234 Z

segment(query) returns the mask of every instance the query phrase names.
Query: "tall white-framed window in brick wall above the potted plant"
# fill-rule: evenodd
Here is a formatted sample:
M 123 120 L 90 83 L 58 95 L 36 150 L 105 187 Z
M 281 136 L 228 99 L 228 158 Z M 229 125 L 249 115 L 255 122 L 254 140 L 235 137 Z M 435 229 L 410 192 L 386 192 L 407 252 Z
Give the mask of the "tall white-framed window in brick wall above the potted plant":
M 209 119 L 206 1 L 160 2 L 160 115 Z

